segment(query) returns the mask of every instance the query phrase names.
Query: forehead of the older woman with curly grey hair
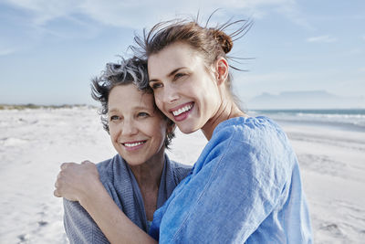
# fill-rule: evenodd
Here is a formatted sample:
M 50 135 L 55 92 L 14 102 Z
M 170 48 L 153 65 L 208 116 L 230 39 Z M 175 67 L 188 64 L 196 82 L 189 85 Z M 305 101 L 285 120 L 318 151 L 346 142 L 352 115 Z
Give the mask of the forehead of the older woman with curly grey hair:
M 112 109 L 132 109 L 136 107 L 144 107 L 153 109 L 153 95 L 138 90 L 137 87 L 130 83 L 128 85 L 120 85 L 110 90 L 108 107 Z

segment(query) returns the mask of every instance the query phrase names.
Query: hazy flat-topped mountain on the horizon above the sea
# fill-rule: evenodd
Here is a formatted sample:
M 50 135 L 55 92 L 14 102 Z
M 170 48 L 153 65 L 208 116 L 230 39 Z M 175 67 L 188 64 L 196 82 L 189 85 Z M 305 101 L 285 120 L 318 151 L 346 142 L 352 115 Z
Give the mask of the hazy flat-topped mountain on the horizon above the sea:
M 326 90 L 267 92 L 247 102 L 248 109 L 349 109 L 365 108 L 365 97 L 340 97 Z

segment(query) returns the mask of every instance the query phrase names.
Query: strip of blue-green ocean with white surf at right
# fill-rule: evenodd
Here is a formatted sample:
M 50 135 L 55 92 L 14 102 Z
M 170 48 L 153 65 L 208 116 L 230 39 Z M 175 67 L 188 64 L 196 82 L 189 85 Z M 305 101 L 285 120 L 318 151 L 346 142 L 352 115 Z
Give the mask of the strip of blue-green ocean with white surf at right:
M 255 110 L 252 116 L 266 115 L 279 123 L 306 123 L 365 132 L 365 109 L 341 110 Z

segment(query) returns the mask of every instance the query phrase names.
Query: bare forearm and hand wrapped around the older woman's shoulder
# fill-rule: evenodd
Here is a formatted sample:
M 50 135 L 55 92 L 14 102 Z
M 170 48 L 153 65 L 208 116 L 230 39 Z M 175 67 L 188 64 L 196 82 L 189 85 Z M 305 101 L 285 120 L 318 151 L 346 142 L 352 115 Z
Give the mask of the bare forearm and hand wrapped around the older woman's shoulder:
M 156 243 L 114 203 L 99 181 L 95 164 L 62 164 L 55 186 L 54 195 L 78 201 L 89 212 L 110 243 Z

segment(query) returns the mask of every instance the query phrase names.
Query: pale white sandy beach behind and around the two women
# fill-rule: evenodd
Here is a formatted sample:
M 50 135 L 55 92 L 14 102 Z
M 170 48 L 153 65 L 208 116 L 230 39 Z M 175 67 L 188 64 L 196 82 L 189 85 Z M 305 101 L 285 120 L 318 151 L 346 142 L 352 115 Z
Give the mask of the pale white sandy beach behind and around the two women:
M 297 153 L 315 243 L 363 243 L 365 132 L 278 122 Z M 168 154 L 193 164 L 205 143 L 178 132 Z M 53 196 L 59 165 L 114 154 L 94 108 L 0 111 L 0 243 L 68 243 Z

